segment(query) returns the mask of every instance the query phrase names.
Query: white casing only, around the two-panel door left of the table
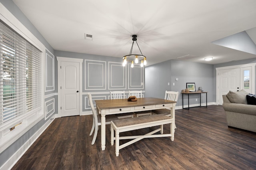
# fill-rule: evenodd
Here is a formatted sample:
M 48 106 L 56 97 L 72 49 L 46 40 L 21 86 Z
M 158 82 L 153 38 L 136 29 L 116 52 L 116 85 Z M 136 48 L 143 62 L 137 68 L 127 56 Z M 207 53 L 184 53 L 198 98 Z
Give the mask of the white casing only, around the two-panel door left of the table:
M 80 105 L 80 109 L 79 109 L 79 115 L 82 113 L 82 63 L 84 61 L 84 59 L 78 59 L 78 58 L 68 58 L 68 57 L 56 57 L 57 59 L 57 63 L 58 63 L 58 117 L 61 117 L 61 89 L 60 89 L 60 85 L 61 85 L 61 70 L 60 70 L 60 66 L 61 66 L 61 62 L 62 61 L 66 61 L 66 62 L 78 62 L 79 63 L 79 79 L 81 81 L 79 81 L 79 91 L 80 91 L 80 97 L 79 97 L 79 105 Z

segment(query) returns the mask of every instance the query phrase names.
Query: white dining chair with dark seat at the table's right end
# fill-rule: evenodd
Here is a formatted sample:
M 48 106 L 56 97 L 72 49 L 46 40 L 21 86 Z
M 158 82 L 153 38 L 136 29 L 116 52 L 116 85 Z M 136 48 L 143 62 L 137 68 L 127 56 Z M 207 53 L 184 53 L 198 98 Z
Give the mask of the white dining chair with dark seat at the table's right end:
M 165 96 L 164 99 L 165 100 L 171 100 L 171 101 L 178 101 L 178 95 L 179 92 L 178 91 L 165 91 Z M 174 104 L 174 106 L 176 105 L 176 103 Z M 163 115 L 167 115 L 167 116 L 171 116 L 171 111 L 170 109 L 156 109 L 156 110 L 152 110 L 152 113 L 154 114 L 163 114 Z

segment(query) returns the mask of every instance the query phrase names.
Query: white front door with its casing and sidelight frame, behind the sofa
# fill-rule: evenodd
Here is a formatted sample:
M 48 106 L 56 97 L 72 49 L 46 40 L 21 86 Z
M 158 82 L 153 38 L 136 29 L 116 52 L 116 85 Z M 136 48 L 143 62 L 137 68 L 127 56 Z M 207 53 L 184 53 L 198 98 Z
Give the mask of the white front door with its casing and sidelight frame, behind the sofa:
M 216 68 L 216 103 L 222 105 L 222 95 L 229 91 L 244 89 L 244 70 L 250 70 L 250 87 L 244 89 L 255 93 L 255 63 Z M 239 88 L 239 89 L 238 89 Z

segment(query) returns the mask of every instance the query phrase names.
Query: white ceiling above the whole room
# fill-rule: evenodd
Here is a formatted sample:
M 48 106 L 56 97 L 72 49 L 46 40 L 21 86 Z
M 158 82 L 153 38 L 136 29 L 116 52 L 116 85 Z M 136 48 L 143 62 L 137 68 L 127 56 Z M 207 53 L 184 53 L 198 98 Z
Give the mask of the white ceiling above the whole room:
M 212 43 L 246 30 L 255 43 L 256 0 L 13 1 L 55 50 L 122 60 L 136 34 L 148 65 L 169 59 L 218 64 L 256 58 Z

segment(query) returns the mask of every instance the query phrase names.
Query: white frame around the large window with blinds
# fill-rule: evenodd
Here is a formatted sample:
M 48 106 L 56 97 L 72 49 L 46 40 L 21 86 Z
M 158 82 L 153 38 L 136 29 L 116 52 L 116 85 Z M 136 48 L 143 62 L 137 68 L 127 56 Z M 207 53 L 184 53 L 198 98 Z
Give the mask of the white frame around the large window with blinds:
M 41 109 L 32 113 L 27 117 L 23 117 L 21 125 L 15 128 L 15 130 L 10 131 L 9 129 L 4 132 L 1 132 L 1 135 L 4 134 L 4 137 L 0 138 L 0 152 L 3 152 L 11 144 L 13 144 L 18 138 L 24 135 L 28 130 L 30 130 L 34 125 L 36 125 L 41 120 L 44 120 L 44 58 L 46 47 L 43 43 L 34 36 L 4 5 L 0 3 L 0 20 L 4 22 L 8 27 L 26 39 L 29 43 L 34 45 L 40 51 L 42 51 L 41 56 L 41 82 L 42 87 L 41 91 Z M 40 37 L 40 36 L 39 36 Z

